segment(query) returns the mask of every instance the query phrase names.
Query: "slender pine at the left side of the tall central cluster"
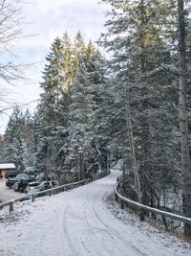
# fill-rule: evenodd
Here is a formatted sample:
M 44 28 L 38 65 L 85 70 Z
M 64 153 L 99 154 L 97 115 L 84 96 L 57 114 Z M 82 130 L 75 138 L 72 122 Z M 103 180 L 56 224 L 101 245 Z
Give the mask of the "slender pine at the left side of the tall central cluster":
M 50 154 L 53 131 L 56 127 L 56 110 L 59 101 L 61 79 L 59 72 L 62 68 L 62 43 L 55 38 L 50 54 L 46 58 L 48 64 L 43 72 L 41 87 L 44 93 L 41 95 L 41 102 L 38 106 L 36 118 L 36 168 L 50 175 Z M 46 159 L 46 160 L 45 160 Z M 52 163 L 53 164 L 53 163 Z M 53 166 L 51 167 L 53 168 Z

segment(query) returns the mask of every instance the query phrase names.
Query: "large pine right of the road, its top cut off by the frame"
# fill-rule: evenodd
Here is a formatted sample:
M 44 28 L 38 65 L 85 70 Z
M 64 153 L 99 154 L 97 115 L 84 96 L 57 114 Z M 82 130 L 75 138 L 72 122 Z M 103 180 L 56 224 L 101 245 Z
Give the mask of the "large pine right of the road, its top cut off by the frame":
M 163 102 L 168 108 L 170 106 L 170 109 L 173 109 L 175 104 L 174 98 L 161 99 L 161 95 L 167 95 L 168 91 L 172 95 L 174 88 L 172 86 L 169 89 L 169 87 L 176 81 L 176 67 L 170 65 L 173 53 L 167 44 L 171 38 L 168 40 L 165 38 L 167 31 L 170 32 L 169 35 L 172 35 L 175 28 L 175 25 L 170 25 L 174 22 L 175 1 L 106 0 L 103 2 L 110 3 L 113 9 L 110 13 L 112 18 L 106 23 L 108 33 L 102 36 L 101 43 L 114 53 L 113 74 L 117 76 L 117 85 L 124 87 L 124 95 L 130 99 L 128 105 L 131 109 L 133 141 L 139 161 L 138 173 L 141 179 L 142 202 L 152 204 L 153 194 L 156 195 L 154 184 L 157 181 L 155 173 L 158 162 L 153 160 L 154 155 L 151 149 L 159 130 L 167 136 L 168 140 L 175 143 L 172 139 L 173 133 L 169 132 L 166 135 L 168 131 L 164 127 L 167 123 L 160 128 L 155 126 L 156 122 L 162 124 L 163 117 L 159 112 Z M 126 108 L 125 102 L 124 99 L 121 107 Z M 177 115 L 176 110 L 174 112 Z M 167 121 L 172 128 L 176 128 L 176 118 L 172 120 L 170 111 L 165 112 L 165 115 L 163 121 Z M 123 119 L 121 118 L 121 121 Z M 123 124 L 129 123 L 127 119 L 123 122 Z M 122 127 L 121 130 L 123 130 Z M 128 138 L 127 149 L 130 142 Z M 173 152 L 170 147 L 168 151 L 173 153 L 175 159 L 177 158 L 176 151 Z M 161 160 L 163 156 L 160 155 L 159 158 Z M 162 168 L 165 166 L 164 162 Z M 141 219 L 144 219 L 144 214 Z

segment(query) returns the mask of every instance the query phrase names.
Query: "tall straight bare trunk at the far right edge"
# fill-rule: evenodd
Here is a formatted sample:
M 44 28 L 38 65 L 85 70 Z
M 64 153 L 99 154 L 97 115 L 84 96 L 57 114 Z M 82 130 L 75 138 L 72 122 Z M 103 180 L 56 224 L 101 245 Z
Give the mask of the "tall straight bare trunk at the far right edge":
M 183 213 L 191 218 L 191 173 L 189 157 L 188 117 L 186 100 L 186 58 L 185 58 L 185 23 L 183 0 L 178 0 L 179 17 L 179 100 L 180 100 L 180 132 L 181 132 L 181 172 L 183 177 Z M 191 224 L 184 223 L 184 234 L 191 237 Z

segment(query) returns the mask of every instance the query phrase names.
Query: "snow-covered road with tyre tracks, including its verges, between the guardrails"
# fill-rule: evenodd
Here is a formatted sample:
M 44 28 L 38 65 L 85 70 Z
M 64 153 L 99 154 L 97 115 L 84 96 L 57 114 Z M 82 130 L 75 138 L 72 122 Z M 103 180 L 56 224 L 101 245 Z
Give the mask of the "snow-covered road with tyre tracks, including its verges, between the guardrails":
M 191 256 L 191 248 L 107 205 L 119 172 L 0 211 L 1 256 Z

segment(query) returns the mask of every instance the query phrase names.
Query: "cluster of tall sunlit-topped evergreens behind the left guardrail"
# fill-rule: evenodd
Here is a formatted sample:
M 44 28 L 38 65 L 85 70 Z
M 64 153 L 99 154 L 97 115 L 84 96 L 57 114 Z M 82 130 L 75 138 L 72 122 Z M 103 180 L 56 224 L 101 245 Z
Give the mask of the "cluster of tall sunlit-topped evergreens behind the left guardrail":
M 92 146 L 90 130 L 96 125 L 103 60 L 79 32 L 73 43 L 67 33 L 56 38 L 46 60 L 43 93 L 34 115 L 35 168 L 46 176 L 56 175 L 60 182 L 83 178 L 90 175 L 92 161 L 98 162 L 97 172 L 100 162 L 93 156 L 97 146 Z M 83 167 L 79 158 L 84 158 Z

